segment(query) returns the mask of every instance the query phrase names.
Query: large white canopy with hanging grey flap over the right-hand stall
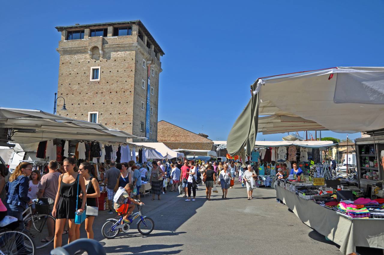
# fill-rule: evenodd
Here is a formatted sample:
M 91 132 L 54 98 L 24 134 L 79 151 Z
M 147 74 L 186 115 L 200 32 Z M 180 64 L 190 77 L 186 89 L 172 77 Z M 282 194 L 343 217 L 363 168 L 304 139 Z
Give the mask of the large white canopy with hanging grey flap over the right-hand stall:
M 232 156 L 249 156 L 258 131 L 349 133 L 384 128 L 384 67 L 337 67 L 269 76 L 257 79 L 251 90 L 252 98 L 227 139 Z

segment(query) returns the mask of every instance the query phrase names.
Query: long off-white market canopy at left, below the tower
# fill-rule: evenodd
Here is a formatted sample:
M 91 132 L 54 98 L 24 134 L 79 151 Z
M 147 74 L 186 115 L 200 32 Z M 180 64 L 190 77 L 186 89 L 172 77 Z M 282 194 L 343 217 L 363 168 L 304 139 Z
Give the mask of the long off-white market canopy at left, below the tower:
M 51 139 L 126 142 L 143 139 L 101 124 L 46 113 L 40 110 L 0 107 L 0 128 L 13 128 L 12 142 L 28 144 Z

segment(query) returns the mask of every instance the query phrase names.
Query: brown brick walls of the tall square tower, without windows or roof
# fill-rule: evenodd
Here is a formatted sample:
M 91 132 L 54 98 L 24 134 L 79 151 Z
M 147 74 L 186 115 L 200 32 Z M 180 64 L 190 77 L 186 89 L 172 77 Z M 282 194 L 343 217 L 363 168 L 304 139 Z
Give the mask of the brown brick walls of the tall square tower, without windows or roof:
M 112 26 L 108 26 L 109 36 L 111 29 Z M 61 33 L 56 49 L 60 53 L 58 96 L 65 98 L 67 111 L 60 110 L 63 105 L 60 98 L 57 114 L 88 121 L 88 112 L 98 112 L 98 123 L 144 137 L 140 122 L 144 125 L 146 122 L 147 66 L 142 66 L 142 60 L 151 61 L 153 55 L 138 38 L 138 26 L 132 25 L 129 36 L 88 38 L 89 29 L 85 30 L 83 40 L 65 41 L 65 31 Z M 91 68 L 98 66 L 100 80 L 90 81 Z M 150 140 L 156 141 L 159 73 L 162 70 L 159 60 L 152 61 L 152 66 L 155 76 L 151 75 L 154 94 L 150 101 L 153 109 Z M 142 80 L 145 88 L 142 88 Z M 144 102 L 144 110 L 141 102 Z

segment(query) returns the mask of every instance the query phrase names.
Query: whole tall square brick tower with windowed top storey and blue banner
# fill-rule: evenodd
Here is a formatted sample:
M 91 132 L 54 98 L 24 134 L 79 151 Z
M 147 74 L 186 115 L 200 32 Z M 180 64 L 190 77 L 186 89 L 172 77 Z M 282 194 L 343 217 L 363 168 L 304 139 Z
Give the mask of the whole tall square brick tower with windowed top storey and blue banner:
M 160 58 L 140 20 L 57 26 L 57 114 L 157 141 Z

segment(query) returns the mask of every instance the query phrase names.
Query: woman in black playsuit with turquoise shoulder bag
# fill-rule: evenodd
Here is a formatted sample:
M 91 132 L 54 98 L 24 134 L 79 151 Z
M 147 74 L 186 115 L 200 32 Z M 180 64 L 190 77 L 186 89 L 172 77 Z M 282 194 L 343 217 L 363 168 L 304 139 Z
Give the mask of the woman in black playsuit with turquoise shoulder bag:
M 74 171 L 74 167 L 76 166 L 74 158 L 67 157 L 64 159 L 63 164 L 66 172 L 59 177 L 59 187 L 52 210 L 53 217 L 56 217 L 55 239 L 53 241 L 54 248 L 61 246 L 61 235 L 63 234 L 64 225 L 67 219 L 69 219 L 68 243 L 76 240 L 76 224 L 74 223 L 74 217 L 76 214 L 78 189 L 79 193 L 83 192 L 84 194 L 84 199 L 78 200 L 77 208 L 79 212 L 83 213 L 86 202 L 84 178 L 80 178 L 81 175 Z

